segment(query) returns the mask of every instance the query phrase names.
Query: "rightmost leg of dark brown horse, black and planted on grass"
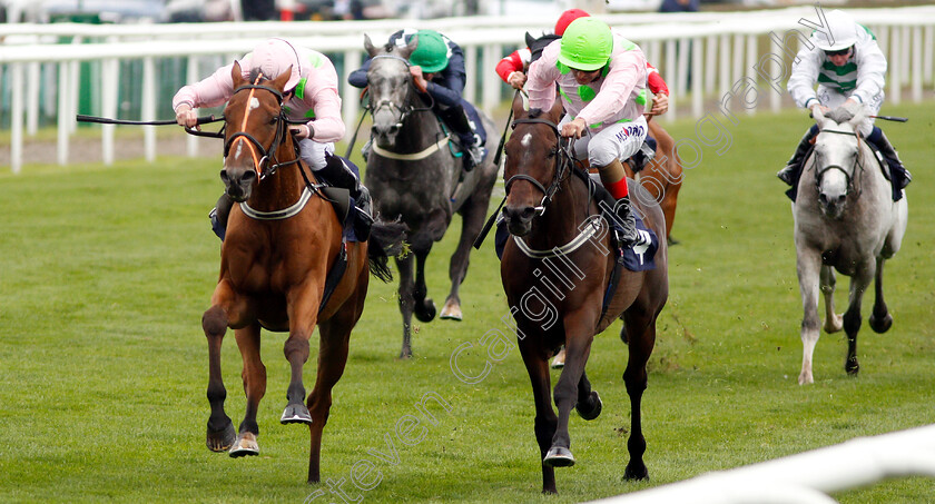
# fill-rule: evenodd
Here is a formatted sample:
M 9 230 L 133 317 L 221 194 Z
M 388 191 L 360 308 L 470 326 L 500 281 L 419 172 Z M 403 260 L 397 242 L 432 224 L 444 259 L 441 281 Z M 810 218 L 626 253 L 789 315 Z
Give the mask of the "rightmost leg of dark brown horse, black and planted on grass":
M 626 480 L 647 480 L 649 471 L 643 462 L 646 453 L 646 437 L 642 433 L 642 394 L 649 381 L 646 364 L 656 346 L 656 316 L 646 313 L 633 313 L 630 308 L 623 323 L 629 335 L 629 357 L 623 370 L 623 384 L 630 396 L 630 438 L 627 439 L 627 451 L 630 462 L 623 472 Z

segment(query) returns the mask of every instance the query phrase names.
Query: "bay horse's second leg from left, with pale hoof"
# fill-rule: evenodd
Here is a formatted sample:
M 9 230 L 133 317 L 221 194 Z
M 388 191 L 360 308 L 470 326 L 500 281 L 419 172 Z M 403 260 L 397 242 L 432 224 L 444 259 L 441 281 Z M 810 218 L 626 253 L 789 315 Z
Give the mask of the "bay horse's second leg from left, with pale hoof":
M 259 401 L 266 394 L 266 366 L 259 357 L 259 325 L 250 324 L 247 327 L 236 329 L 234 337 L 237 338 L 237 348 L 240 349 L 240 357 L 244 360 L 244 370 L 240 373 L 244 379 L 244 392 L 247 395 L 247 409 L 244 421 L 238 429 L 237 441 L 230 447 L 228 454 L 232 457 L 245 455 L 258 455 L 259 425 L 256 423 L 256 413 L 259 408 Z

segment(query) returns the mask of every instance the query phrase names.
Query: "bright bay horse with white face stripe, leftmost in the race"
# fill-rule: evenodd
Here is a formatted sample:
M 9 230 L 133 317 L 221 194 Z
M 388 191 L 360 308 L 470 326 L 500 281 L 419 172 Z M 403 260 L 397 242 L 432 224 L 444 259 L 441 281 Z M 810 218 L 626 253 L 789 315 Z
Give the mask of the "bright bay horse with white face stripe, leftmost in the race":
M 259 453 L 256 414 L 266 393 L 260 328 L 288 332 L 283 352 L 292 378 L 280 422 L 308 425 L 308 482 L 318 482 L 331 391 L 344 372 L 351 329 L 364 308 L 368 274 L 390 279 L 384 244 L 398 246 L 402 228 L 375 223 L 370 243 L 344 240 L 342 223 L 288 134 L 283 88 L 289 71 L 267 80 L 254 70 L 245 80 L 235 63 L 232 77 L 235 91 L 224 109 L 220 178 L 227 195 L 239 205 L 230 211 L 219 279 L 211 306 L 201 318 L 208 340 L 207 395 L 211 406 L 207 446 L 214 452 L 228 451 L 232 457 Z M 328 283 L 333 289 L 327 290 L 329 277 L 338 280 Z M 316 325 L 317 376 L 306 405 L 303 365 Z M 228 327 L 234 329 L 243 357 L 247 397 L 236 434 L 224 412 L 227 392 L 220 373 L 222 340 Z

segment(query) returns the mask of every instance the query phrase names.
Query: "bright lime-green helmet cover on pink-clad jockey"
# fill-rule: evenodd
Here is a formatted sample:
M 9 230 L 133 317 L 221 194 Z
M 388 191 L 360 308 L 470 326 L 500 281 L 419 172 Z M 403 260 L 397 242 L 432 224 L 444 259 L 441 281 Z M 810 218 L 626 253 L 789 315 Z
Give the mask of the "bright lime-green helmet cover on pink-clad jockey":
M 610 27 L 597 18 L 578 18 L 562 34 L 559 63 L 575 70 L 603 68 L 613 52 Z

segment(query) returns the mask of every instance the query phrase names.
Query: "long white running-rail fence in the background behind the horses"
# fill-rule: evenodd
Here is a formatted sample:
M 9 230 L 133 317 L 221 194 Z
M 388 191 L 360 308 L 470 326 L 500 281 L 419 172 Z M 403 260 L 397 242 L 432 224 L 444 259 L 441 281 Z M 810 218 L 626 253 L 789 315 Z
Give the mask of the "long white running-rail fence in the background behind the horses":
M 913 100 L 921 101 L 924 87 L 933 80 L 933 33 L 935 6 L 902 9 L 855 9 L 855 18 L 877 36 L 889 57 L 887 90 L 889 102 L 899 102 L 908 83 Z M 621 27 L 628 37 L 643 48 L 671 90 L 671 120 L 687 107 L 692 117 L 705 112 L 705 101 L 717 99 L 727 106 L 736 85 L 755 82 L 767 100 L 745 98 L 747 113 L 768 106 L 778 110 L 790 105 L 784 100 L 788 65 L 798 49 L 793 30 L 804 36 L 810 29 L 801 19 L 817 22 L 815 8 L 790 8 L 750 12 L 698 12 L 682 14 L 611 14 L 602 17 Z M 39 89 L 51 83 L 52 93 L 46 100 L 55 103 L 46 109 L 55 111 L 58 129 L 57 159 L 69 159 L 69 138 L 75 131 L 78 110 L 80 63 L 98 61 L 99 82 L 96 90 L 105 117 L 117 117 L 118 86 L 121 61 L 142 62 L 140 117 L 121 119 L 152 120 L 157 110 L 166 115 L 170 96 L 156 92 L 159 76 L 156 61 L 164 58 L 188 58 L 185 80 L 206 77 L 215 69 L 199 61 L 226 62 L 250 50 L 256 42 L 270 36 L 289 37 L 322 52 L 338 55 L 336 63 L 344 69 L 342 79 L 343 115 L 348 135 L 356 123 L 360 105 L 358 90 L 346 85 L 346 75 L 363 60 L 363 34 L 374 41 L 385 40 L 402 28 L 405 20 L 346 22 L 253 22 L 152 26 L 87 26 L 87 24 L 6 24 L 0 26 L 0 72 L 9 86 L 11 167 L 14 172 L 23 164 L 22 146 L 26 135 L 38 129 Z M 465 98 L 492 110 L 508 96 L 509 88 L 493 72 L 505 53 L 523 43 L 523 34 L 539 34 L 550 30 L 551 18 L 531 14 L 524 20 L 504 18 L 451 18 L 420 21 L 419 28 L 444 32 L 465 50 L 469 83 Z M 56 43 L 67 38 L 71 43 Z M 45 71 L 40 71 L 45 70 Z M 49 71 L 50 70 L 50 71 Z M 50 77 L 51 76 L 51 77 Z M 479 77 L 478 77 L 479 76 Z M 476 78 L 475 78 L 476 77 Z M 47 87 L 48 89 L 48 87 Z M 736 100 L 736 99 L 735 99 Z M 47 103 L 49 105 L 49 103 Z M 104 161 L 114 160 L 114 126 L 102 126 Z M 154 160 L 157 152 L 152 127 L 144 127 L 145 156 Z M 188 155 L 197 154 L 194 138 Z

